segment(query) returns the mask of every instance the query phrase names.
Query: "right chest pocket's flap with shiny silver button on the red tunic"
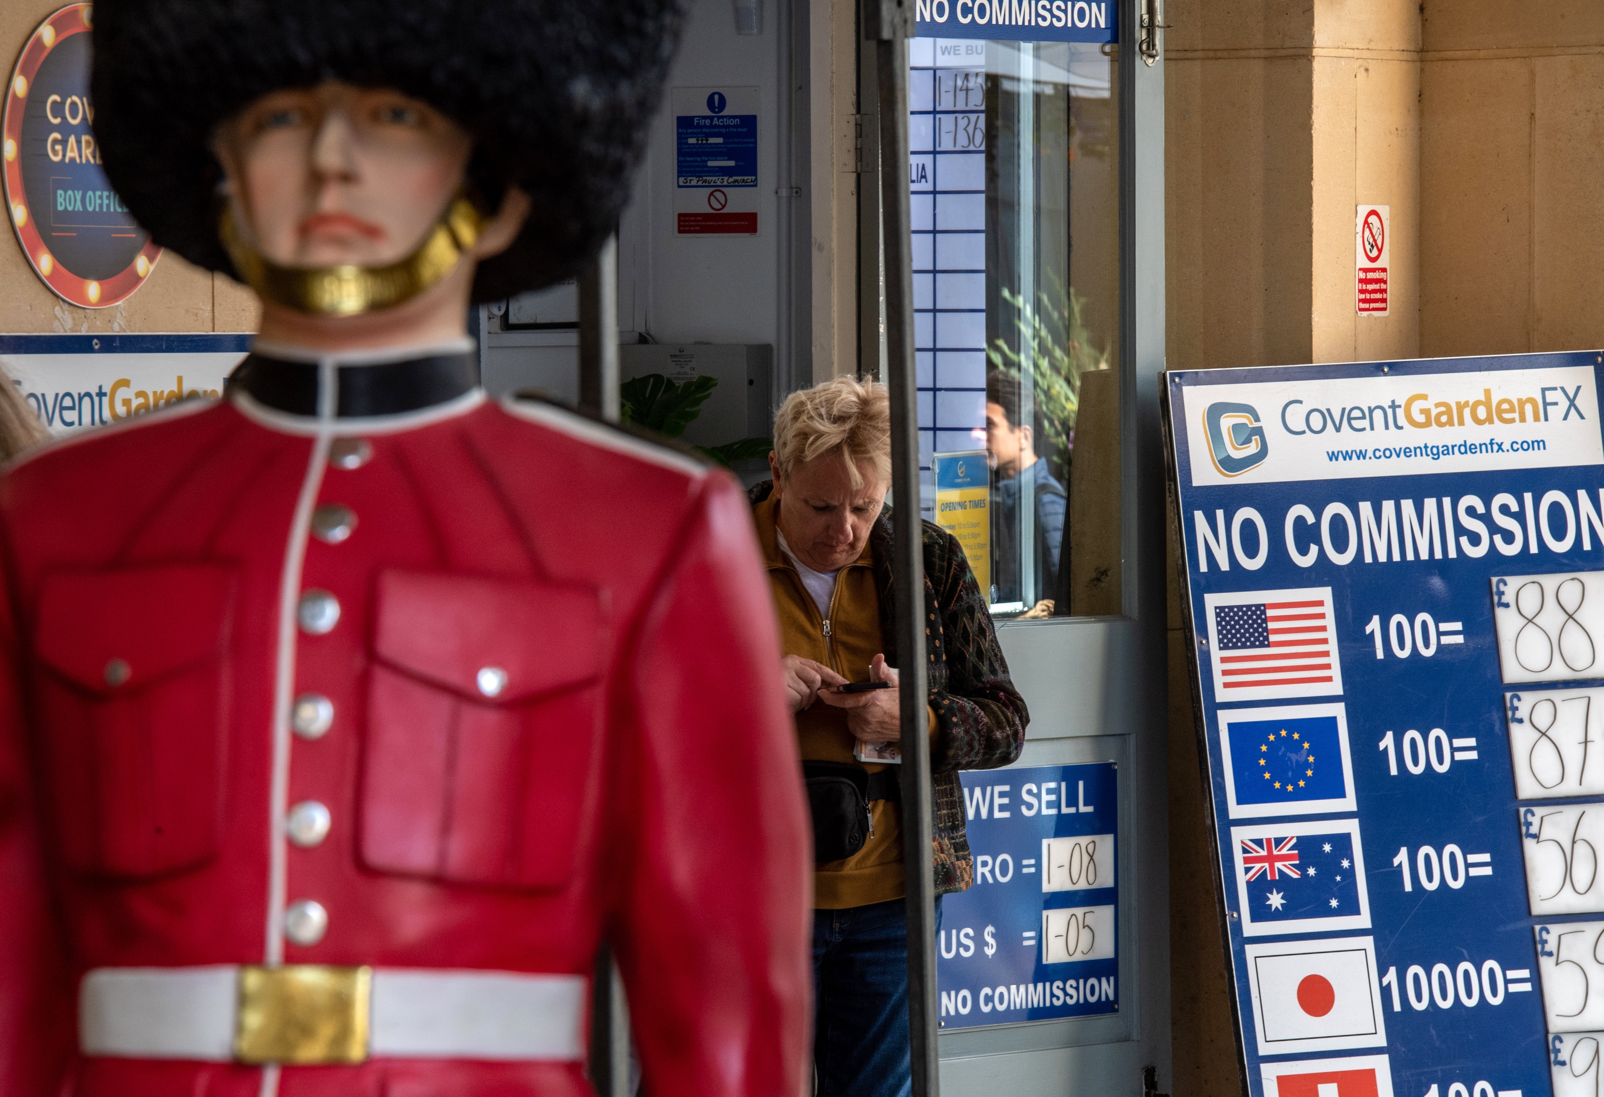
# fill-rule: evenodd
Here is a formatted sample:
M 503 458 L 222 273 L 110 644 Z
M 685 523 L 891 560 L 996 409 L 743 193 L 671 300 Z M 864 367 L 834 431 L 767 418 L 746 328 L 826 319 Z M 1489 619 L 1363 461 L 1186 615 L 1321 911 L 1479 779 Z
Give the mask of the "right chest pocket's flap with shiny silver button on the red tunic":
M 379 576 L 374 654 L 475 701 L 512 704 L 593 680 L 602 597 L 592 587 L 415 571 Z

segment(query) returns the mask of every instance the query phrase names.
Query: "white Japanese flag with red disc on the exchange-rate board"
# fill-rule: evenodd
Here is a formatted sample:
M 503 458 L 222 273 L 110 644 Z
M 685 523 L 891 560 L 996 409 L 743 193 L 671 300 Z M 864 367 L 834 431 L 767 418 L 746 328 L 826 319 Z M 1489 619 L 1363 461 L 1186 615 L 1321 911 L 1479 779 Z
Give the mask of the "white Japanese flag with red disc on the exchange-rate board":
M 1373 938 L 1248 945 L 1246 954 L 1261 1055 L 1387 1042 Z

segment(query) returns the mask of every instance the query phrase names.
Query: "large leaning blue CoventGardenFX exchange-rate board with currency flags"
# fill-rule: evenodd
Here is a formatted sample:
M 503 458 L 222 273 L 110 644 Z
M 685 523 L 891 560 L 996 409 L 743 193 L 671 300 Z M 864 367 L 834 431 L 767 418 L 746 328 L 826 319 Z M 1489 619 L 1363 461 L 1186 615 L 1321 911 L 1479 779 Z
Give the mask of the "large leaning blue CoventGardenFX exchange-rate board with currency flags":
M 1601 369 L 1168 375 L 1254 1097 L 1601 1092 Z

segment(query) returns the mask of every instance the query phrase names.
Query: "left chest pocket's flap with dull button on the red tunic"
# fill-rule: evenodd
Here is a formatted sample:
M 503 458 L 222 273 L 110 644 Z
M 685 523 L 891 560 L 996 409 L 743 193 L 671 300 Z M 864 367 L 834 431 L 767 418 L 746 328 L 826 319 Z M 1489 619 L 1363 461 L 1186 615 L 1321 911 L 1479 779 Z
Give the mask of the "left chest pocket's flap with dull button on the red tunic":
M 34 650 L 93 693 L 136 690 L 220 659 L 233 608 L 229 565 L 55 573 L 38 595 Z

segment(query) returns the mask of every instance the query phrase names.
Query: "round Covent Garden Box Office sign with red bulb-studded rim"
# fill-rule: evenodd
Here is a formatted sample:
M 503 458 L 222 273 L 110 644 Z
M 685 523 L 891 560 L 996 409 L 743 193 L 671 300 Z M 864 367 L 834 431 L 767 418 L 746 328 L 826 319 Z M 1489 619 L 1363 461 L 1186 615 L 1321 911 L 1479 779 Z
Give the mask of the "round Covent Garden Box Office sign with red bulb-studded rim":
M 125 300 L 162 253 L 101 170 L 91 123 L 93 5 L 61 8 L 34 30 L 5 96 L 5 199 L 34 269 L 64 300 Z

